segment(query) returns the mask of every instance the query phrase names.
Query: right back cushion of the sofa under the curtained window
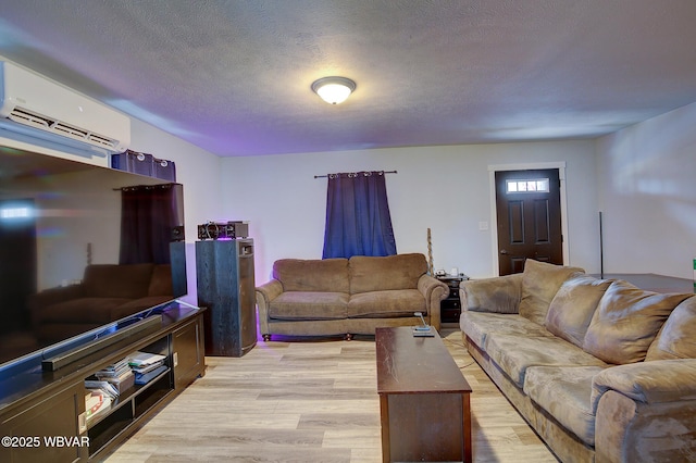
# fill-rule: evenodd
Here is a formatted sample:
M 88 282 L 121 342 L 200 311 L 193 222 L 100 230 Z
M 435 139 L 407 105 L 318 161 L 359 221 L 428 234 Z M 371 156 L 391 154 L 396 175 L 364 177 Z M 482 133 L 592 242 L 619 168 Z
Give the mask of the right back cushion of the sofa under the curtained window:
M 350 258 L 350 293 L 415 289 L 427 272 L 425 255 L 419 253 L 387 256 L 353 255 Z

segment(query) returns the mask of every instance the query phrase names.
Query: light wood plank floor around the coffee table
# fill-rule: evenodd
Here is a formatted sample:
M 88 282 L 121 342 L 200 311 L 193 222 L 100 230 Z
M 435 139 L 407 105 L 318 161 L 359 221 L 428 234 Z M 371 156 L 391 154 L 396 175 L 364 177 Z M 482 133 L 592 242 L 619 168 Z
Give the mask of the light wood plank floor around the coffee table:
M 557 462 L 444 329 L 471 385 L 476 462 Z M 208 371 L 108 463 L 381 462 L 374 338 L 259 343 L 243 358 L 207 358 Z

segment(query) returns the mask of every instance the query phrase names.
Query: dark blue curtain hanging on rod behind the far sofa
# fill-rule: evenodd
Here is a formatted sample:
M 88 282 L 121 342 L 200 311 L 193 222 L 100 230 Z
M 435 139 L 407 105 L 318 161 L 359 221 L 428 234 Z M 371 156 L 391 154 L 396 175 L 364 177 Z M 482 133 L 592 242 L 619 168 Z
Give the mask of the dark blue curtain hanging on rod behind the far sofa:
M 324 259 L 396 254 L 384 172 L 328 175 Z

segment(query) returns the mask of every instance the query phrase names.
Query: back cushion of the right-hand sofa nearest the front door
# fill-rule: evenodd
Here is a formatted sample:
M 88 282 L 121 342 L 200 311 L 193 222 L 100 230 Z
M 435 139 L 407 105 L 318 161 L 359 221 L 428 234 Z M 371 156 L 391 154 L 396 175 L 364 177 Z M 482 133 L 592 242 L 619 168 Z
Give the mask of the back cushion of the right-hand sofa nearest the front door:
M 520 315 L 544 325 L 548 306 L 563 281 L 576 273 L 580 267 L 568 267 L 527 259 L 522 272 L 522 299 Z

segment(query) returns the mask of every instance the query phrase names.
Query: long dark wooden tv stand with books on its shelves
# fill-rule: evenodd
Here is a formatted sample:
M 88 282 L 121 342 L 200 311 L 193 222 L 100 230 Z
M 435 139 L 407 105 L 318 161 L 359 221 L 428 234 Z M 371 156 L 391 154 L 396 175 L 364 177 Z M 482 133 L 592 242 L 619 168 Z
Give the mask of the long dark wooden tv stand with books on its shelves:
M 166 371 L 121 393 L 111 408 L 87 418 L 85 378 L 141 350 L 165 356 Z M 41 359 L 0 380 L 0 461 L 101 460 L 206 373 L 203 310 L 173 303 L 160 326 L 119 339 L 61 366 Z

